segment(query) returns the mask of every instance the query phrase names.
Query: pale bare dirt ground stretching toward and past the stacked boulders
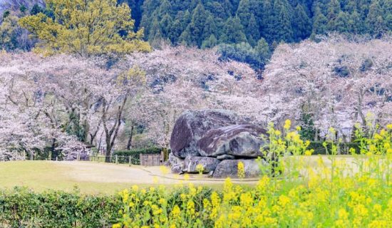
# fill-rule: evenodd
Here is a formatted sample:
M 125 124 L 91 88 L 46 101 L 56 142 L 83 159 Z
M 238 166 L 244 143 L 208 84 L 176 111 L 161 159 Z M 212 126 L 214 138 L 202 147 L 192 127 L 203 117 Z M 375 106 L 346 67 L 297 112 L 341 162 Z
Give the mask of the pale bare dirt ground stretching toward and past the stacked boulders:
M 324 161 L 326 167 L 331 167 L 331 160 L 327 156 L 309 157 L 288 157 L 289 159 L 302 160 L 304 165 L 301 173 L 305 175 L 307 167 L 311 167 L 315 172 L 319 167 L 319 159 Z M 336 156 L 336 161 L 344 163 L 347 174 L 358 172 L 358 165 L 355 164 L 351 156 Z M 287 158 L 286 158 L 287 159 Z M 98 183 L 130 183 L 130 184 L 177 184 L 180 182 L 193 182 L 195 184 L 220 184 L 225 180 L 208 178 L 207 175 L 190 175 L 189 180 L 185 180 L 184 175 L 173 175 L 170 172 L 163 174 L 160 167 L 142 167 L 138 165 L 115 165 L 103 162 L 53 162 L 56 166 L 68 170 L 68 179 L 76 182 L 98 182 Z M 167 170 L 169 171 L 169 170 Z M 254 184 L 255 179 L 238 180 L 233 182 Z

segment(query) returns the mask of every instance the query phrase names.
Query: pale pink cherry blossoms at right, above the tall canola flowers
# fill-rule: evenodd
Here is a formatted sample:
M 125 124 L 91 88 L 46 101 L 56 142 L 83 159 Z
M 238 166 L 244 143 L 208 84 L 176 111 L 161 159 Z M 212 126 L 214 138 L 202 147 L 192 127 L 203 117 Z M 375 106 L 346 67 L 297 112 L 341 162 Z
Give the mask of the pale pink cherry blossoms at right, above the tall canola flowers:
M 274 107 L 266 114 L 278 121 L 311 113 L 317 128 L 334 127 L 341 136 L 356 122 L 366 125 L 366 113 L 391 121 L 391 48 L 388 37 L 341 36 L 278 46 L 265 72 L 264 98 Z

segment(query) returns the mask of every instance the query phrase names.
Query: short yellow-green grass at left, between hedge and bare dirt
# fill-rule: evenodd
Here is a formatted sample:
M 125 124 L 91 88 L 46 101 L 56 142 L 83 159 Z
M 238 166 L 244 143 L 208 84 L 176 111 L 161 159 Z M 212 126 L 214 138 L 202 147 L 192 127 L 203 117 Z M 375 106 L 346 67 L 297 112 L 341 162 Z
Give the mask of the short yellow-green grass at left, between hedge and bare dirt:
M 114 194 L 131 186 L 121 182 L 86 182 L 69 177 L 70 167 L 47 161 L 0 162 L 0 188 L 29 187 L 34 191 L 64 190 L 71 192 L 77 187 L 88 194 Z

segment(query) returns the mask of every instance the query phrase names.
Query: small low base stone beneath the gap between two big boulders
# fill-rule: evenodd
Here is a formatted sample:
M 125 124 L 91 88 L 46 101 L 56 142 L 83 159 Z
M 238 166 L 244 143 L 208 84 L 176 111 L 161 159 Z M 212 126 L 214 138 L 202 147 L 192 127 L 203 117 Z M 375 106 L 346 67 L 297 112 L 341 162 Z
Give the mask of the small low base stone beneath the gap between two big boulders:
M 184 172 L 189 173 L 197 173 L 197 165 L 202 165 L 203 173 L 208 173 L 214 171 L 217 165 L 220 163 L 220 160 L 217 160 L 214 157 L 193 157 L 188 156 L 185 158 L 184 163 Z

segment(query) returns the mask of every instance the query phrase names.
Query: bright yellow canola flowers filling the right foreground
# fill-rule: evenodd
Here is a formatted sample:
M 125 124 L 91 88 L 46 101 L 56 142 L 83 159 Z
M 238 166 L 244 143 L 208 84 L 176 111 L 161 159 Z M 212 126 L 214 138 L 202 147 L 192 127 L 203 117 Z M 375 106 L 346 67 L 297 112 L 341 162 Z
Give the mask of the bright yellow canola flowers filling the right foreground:
M 319 156 L 315 166 L 306 165 L 313 157 L 310 142 L 290 127 L 287 121 L 282 133 L 269 125 L 269 147 L 279 160 L 262 170 L 256 185 L 234 185 L 228 178 L 222 190 L 133 186 L 120 192 L 123 206 L 113 227 L 391 227 L 392 124 L 374 126 L 371 134 L 358 126 L 359 151 L 350 148 L 344 159 L 336 158 L 340 142 L 330 129 L 324 146 L 329 155 Z M 288 152 L 294 156 L 284 157 Z

